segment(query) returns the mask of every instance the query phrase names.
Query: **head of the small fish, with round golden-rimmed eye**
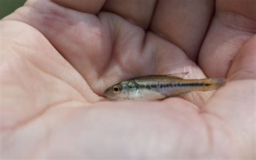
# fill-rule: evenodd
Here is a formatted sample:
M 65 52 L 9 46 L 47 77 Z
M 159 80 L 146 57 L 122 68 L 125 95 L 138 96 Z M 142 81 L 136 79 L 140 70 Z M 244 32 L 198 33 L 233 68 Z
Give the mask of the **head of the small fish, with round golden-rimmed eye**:
M 129 99 L 129 89 L 127 88 L 129 88 L 127 83 L 120 82 L 107 88 L 103 94 L 106 96 L 106 98 L 113 101 L 126 100 Z

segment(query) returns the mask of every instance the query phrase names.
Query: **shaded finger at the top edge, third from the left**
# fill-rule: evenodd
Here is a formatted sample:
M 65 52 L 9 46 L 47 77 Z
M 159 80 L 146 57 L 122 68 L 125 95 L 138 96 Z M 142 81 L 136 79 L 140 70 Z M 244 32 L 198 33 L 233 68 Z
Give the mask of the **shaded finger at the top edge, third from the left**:
M 158 1 L 151 30 L 197 61 L 213 10 L 214 1 Z

